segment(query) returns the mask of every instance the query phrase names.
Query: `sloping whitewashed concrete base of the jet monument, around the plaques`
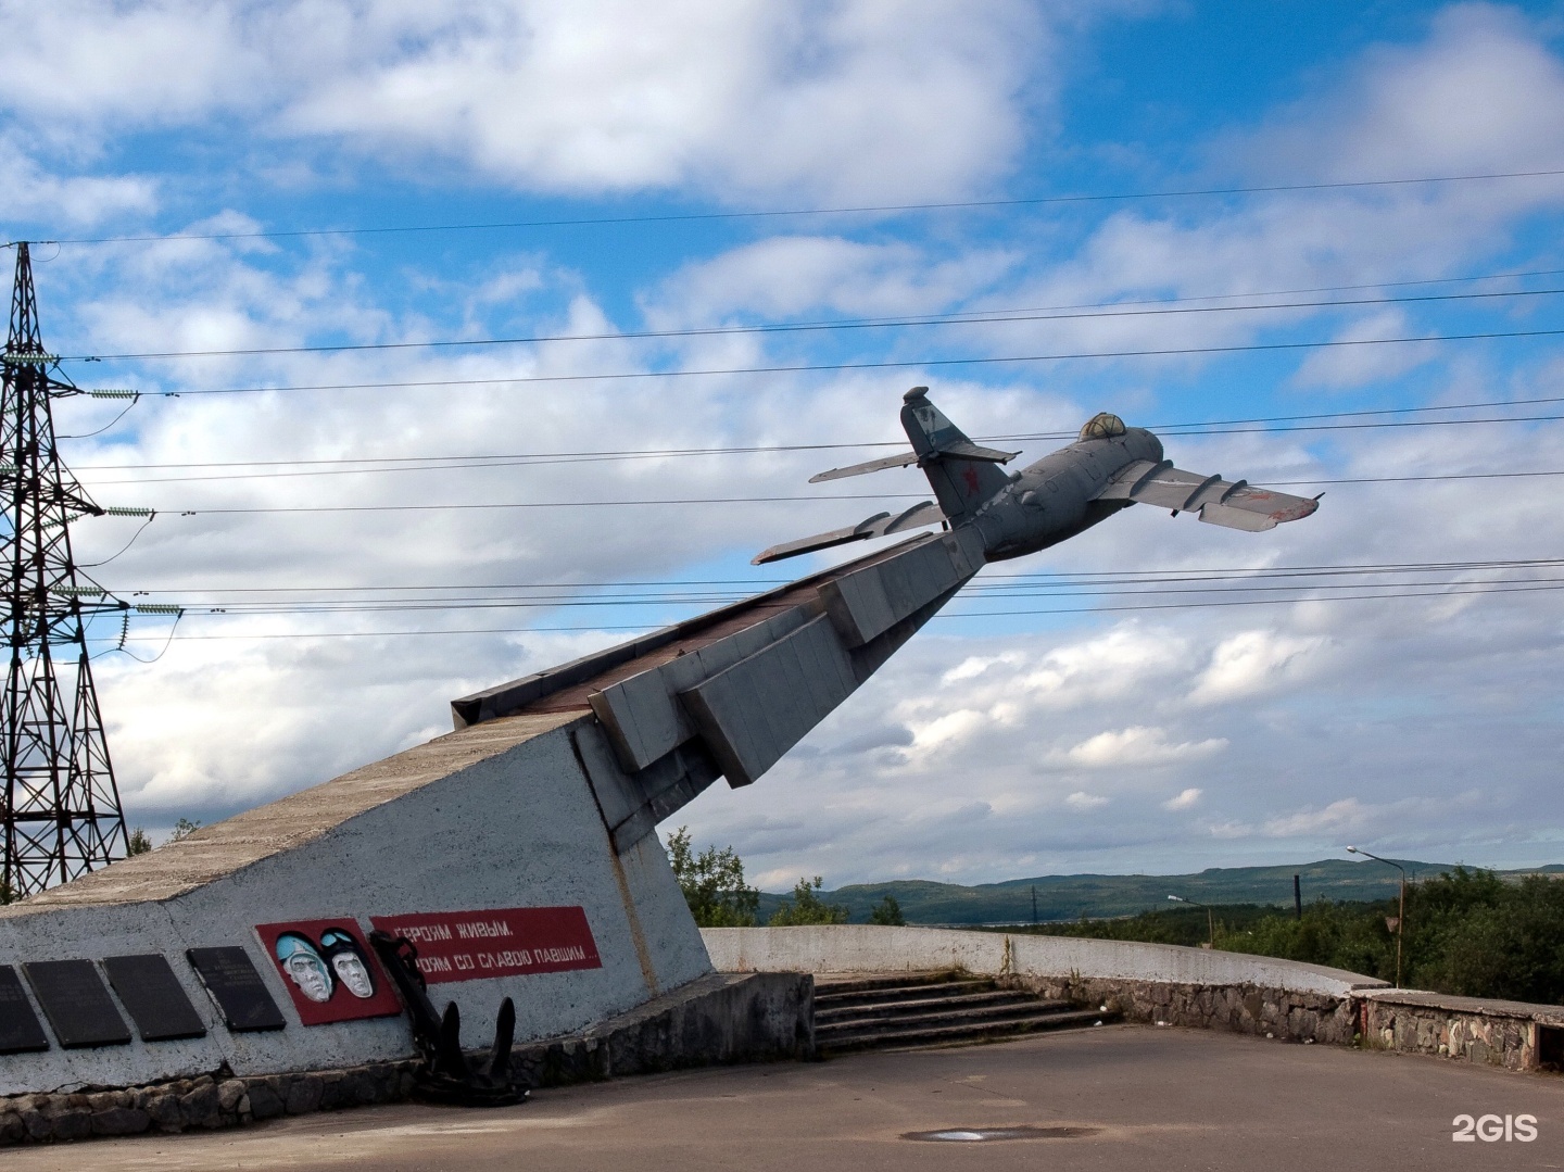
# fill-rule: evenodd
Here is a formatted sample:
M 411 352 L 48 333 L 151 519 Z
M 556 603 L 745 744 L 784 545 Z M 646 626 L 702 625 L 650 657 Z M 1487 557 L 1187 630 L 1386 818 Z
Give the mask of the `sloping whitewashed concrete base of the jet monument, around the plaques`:
M 441 739 L 449 742 L 444 746 L 435 742 L 400 754 L 407 762 L 380 762 L 357 782 L 350 775 L 202 831 L 188 848 L 194 861 L 188 870 L 196 875 L 189 881 L 160 879 L 160 856 L 169 873 L 181 873 L 178 848 L 185 843 L 177 843 L 0 909 L 0 962 L 161 953 L 208 1030 L 192 1041 L 145 1044 L 138 1037 L 130 1045 L 9 1055 L 0 1059 L 0 1094 L 130 1086 L 222 1064 L 235 1075 L 260 1075 L 411 1053 L 405 1016 L 303 1026 L 256 937 L 260 923 L 352 919 L 368 933 L 372 915 L 583 908 L 601 969 L 430 986 L 436 1006 L 454 1000 L 461 1008 L 469 1047 L 488 1044 L 504 997 L 516 1003 L 518 1041 L 555 1037 L 708 973 L 657 839 L 622 854 L 613 850 L 571 746 L 571 728 L 582 720 L 591 718 L 519 717 L 513 721 L 521 724 L 508 729 L 507 721 L 494 721 L 457 732 Z M 413 764 L 429 760 L 444 765 L 427 768 L 430 776 L 419 775 L 418 784 L 399 781 Z M 303 815 L 269 812 L 291 803 L 308 814 L 311 793 L 332 811 L 339 801 L 333 786 L 358 787 L 353 812 L 307 829 L 297 829 Z M 256 828 L 278 823 L 296 829 L 274 831 L 266 850 L 253 850 Z M 211 857 L 221 856 L 219 847 L 228 850 L 227 868 Z M 228 1033 L 185 961 L 186 948 L 206 945 L 247 948 L 286 1028 Z

